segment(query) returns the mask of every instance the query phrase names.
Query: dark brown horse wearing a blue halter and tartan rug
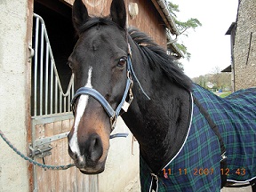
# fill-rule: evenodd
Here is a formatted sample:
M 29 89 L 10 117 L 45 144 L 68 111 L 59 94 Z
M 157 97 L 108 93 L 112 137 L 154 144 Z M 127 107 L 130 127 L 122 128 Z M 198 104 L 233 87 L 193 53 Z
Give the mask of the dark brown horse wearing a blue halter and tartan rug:
M 122 116 L 140 143 L 141 191 L 255 184 L 256 88 L 220 99 L 193 84 L 163 48 L 125 27 L 123 0 L 113 0 L 106 17 L 90 17 L 76 0 L 72 18 L 78 40 L 68 58 L 76 90 L 68 154 L 80 172 L 104 171 Z

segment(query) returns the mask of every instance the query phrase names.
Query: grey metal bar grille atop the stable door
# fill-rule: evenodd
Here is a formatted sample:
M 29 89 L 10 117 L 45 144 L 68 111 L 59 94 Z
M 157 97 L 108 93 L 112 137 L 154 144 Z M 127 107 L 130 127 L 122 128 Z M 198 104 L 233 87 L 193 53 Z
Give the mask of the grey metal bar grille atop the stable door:
M 70 100 L 74 97 L 74 75 L 72 74 L 67 92 L 64 93 L 44 20 L 36 13 L 34 13 L 34 18 L 36 30 L 34 34 L 34 114 L 32 116 L 69 112 L 71 111 Z

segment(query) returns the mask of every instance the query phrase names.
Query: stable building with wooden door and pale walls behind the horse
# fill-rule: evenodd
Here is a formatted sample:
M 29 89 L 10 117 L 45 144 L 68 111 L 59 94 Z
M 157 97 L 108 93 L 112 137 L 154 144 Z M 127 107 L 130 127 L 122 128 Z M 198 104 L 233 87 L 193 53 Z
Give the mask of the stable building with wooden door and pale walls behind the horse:
M 66 65 L 76 44 L 74 0 L 1 0 L 0 130 L 12 145 L 40 164 L 72 164 L 67 134 L 73 124 L 73 76 Z M 92 15 L 107 15 L 111 0 L 84 0 Z M 164 0 L 125 0 L 127 25 L 157 44 L 182 53 L 166 36 L 179 36 Z M 169 42 L 167 42 L 167 40 Z M 168 44 L 168 45 L 167 45 Z M 122 119 L 110 141 L 106 171 L 84 175 L 75 167 L 44 170 L 28 164 L 0 139 L 0 191 L 124 191 L 139 180 L 139 146 Z

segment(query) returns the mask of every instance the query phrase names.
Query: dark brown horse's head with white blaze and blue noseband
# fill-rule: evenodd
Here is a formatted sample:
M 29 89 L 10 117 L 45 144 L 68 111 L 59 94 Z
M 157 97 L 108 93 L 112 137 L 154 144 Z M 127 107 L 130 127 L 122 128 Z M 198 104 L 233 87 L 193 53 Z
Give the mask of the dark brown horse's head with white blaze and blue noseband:
M 82 0 L 76 0 L 73 22 L 79 39 L 68 63 L 75 89 L 85 88 L 73 100 L 75 121 L 68 134 L 68 153 L 81 172 L 95 174 L 104 171 L 116 121 L 112 108 L 119 107 L 129 79 L 124 1 L 113 0 L 110 17 L 102 19 L 90 18 Z

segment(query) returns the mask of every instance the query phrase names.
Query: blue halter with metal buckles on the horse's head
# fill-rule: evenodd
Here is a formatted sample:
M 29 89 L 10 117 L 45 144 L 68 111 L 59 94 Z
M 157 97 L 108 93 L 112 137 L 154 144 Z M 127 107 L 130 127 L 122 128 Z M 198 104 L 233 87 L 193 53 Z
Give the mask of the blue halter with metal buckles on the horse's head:
M 128 57 L 127 57 L 127 66 L 126 66 L 126 86 L 125 86 L 125 90 L 124 90 L 124 95 L 122 100 L 120 101 L 119 105 L 117 106 L 116 110 L 114 110 L 110 104 L 108 103 L 108 100 L 106 100 L 101 94 L 100 92 L 98 92 L 95 89 L 92 89 L 90 87 L 81 87 L 76 91 L 76 94 L 74 96 L 74 98 L 71 100 L 71 108 L 73 110 L 73 114 L 75 115 L 75 103 L 77 98 L 80 95 L 90 95 L 92 96 L 95 100 L 98 100 L 101 104 L 101 106 L 105 109 L 106 113 L 108 114 L 109 118 L 110 118 L 110 124 L 111 124 L 111 130 L 113 131 L 115 129 L 116 126 L 116 119 L 118 116 L 120 116 L 120 112 L 121 109 L 124 110 L 124 112 L 127 112 L 128 108 L 130 107 L 132 100 L 133 100 L 133 94 L 132 94 L 132 85 L 133 85 L 133 81 L 132 81 L 132 77 L 135 79 L 136 83 L 140 86 L 140 90 L 141 92 L 143 92 L 143 94 L 147 97 L 148 100 L 150 100 L 150 98 L 148 97 L 148 95 L 146 94 L 146 92 L 143 91 L 140 82 L 137 78 L 137 76 L 134 73 L 134 70 L 132 68 L 132 61 L 131 61 L 131 56 L 132 56 L 132 52 L 131 52 L 131 47 L 130 44 L 128 44 Z M 126 101 L 126 98 L 128 96 L 128 101 Z

